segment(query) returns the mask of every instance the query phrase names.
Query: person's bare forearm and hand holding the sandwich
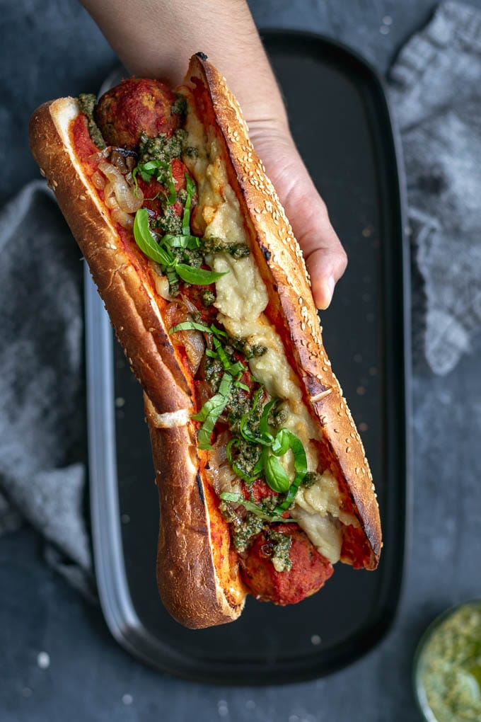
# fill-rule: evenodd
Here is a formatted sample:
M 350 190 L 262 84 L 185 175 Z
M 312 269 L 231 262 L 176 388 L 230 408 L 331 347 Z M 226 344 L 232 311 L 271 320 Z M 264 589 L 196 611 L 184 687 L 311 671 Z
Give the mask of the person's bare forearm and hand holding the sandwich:
M 317 308 L 327 308 L 347 256 L 324 201 L 301 160 L 281 93 L 244 0 L 82 0 L 137 77 L 182 83 L 186 58 L 203 51 L 226 77 L 242 107 L 301 245 Z

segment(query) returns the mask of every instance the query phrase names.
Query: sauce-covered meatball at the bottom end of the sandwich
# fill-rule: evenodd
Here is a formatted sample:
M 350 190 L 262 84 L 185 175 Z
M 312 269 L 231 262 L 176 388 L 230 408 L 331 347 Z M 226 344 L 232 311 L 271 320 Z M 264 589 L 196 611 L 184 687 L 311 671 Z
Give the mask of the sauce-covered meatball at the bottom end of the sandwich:
M 269 531 L 262 531 L 255 537 L 246 554 L 242 555 L 242 579 L 250 593 L 260 601 L 272 601 L 282 606 L 296 604 L 318 591 L 334 569 L 297 524 L 273 524 L 270 529 L 274 536 L 287 534 L 291 537 L 291 569 L 283 572 L 275 570 L 270 562 L 273 541 Z

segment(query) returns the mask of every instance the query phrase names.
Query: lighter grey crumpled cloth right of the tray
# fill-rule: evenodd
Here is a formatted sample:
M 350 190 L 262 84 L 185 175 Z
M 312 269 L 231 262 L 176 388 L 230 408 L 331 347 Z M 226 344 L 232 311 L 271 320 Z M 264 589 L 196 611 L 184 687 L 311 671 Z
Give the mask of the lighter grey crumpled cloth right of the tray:
M 413 355 L 446 374 L 481 329 L 480 12 L 441 4 L 402 49 L 391 80 L 421 282 Z

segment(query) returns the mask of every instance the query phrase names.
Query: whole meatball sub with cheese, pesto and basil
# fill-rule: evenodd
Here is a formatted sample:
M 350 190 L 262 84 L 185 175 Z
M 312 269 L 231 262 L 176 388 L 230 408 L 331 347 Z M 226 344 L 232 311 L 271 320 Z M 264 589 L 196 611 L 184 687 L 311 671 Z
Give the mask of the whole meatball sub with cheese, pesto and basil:
M 144 389 L 172 617 L 295 604 L 374 570 L 376 495 L 299 245 L 224 78 L 38 108 L 30 143 Z M 300 612 L 301 613 L 301 612 Z

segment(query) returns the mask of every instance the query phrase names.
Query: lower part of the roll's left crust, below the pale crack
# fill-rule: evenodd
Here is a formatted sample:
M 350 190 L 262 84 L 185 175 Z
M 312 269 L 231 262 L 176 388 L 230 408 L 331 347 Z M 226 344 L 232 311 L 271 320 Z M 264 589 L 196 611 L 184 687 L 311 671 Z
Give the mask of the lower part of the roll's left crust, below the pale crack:
M 149 398 L 144 398 L 159 489 L 160 596 L 172 617 L 185 627 L 231 622 L 241 614 L 246 592 L 238 567 L 231 569 L 227 554 L 223 562 L 217 559 L 214 564 L 213 549 L 219 549 L 212 539 L 215 510 L 206 500 L 207 489 L 200 478 L 193 423 L 156 428 L 155 411 Z M 229 539 L 229 530 L 222 531 L 224 539 Z

